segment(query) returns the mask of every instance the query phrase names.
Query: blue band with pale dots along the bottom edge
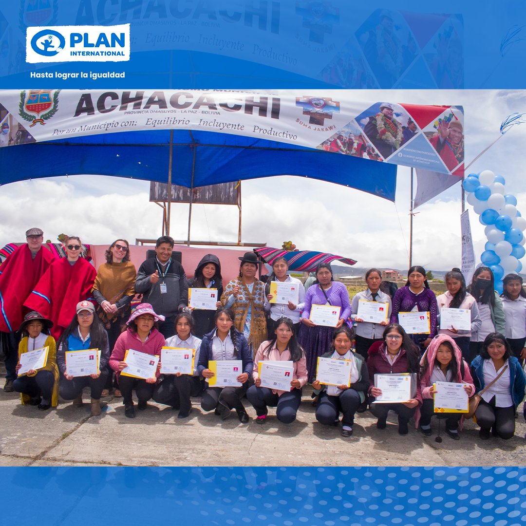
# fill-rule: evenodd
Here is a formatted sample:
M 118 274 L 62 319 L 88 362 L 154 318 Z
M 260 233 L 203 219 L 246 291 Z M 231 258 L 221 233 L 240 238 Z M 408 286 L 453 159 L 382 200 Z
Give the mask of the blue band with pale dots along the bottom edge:
M 4 519 L 93 525 L 174 517 L 265 526 L 521 526 L 523 468 L 3 468 Z M 35 491 L 36 490 L 36 491 Z M 116 510 L 118 513 L 115 515 Z M 101 515 L 101 516 L 102 516 Z M 108 520 L 109 515 L 106 515 Z M 130 522 L 131 521 L 131 522 Z

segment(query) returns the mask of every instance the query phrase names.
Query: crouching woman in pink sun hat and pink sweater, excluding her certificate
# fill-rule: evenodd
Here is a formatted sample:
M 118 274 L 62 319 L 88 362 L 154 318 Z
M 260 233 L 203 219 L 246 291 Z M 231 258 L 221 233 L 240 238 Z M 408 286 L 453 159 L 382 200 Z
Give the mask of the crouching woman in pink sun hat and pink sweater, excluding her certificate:
M 160 356 L 165 345 L 164 336 L 158 331 L 156 321 L 164 321 L 165 317 L 157 314 L 149 303 L 141 303 L 127 321 L 128 328 L 118 337 L 109 359 L 110 367 L 117 373 L 120 391 L 123 393 L 124 414 L 128 418 L 135 418 L 135 408 L 132 391 L 135 389 L 139 410 L 148 407 L 148 400 L 153 396 L 155 383 L 159 378 L 159 367 L 155 378 L 134 378 L 123 376 L 126 367 L 124 356 L 126 351 L 134 349 L 151 356 Z

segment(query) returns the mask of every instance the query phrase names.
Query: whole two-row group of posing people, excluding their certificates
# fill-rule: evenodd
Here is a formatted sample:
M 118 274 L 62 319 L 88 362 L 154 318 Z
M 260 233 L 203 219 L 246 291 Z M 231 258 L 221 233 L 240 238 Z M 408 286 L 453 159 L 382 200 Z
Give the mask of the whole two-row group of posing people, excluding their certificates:
M 302 387 L 311 383 L 317 420 L 338 426 L 341 413 L 344 437 L 352 435 L 355 414 L 367 407 L 378 419 L 378 429 L 386 428 L 392 410 L 398 415 L 400 434 L 408 433 L 409 420 L 414 418 L 421 432 L 430 436 L 434 386 L 453 382 L 462 383 L 470 397 L 479 393 L 475 416 L 482 439 L 491 433 L 503 439 L 514 434 L 526 386 L 521 367 L 526 358 L 526 293 L 518 275 L 504 278 L 500 297 L 488 267 L 476 270 L 469 287 L 460 270 L 453 269 L 445 277 L 447 292 L 436 297 L 429 289 L 426 270 L 414 266 L 406 286 L 391 297 L 381 288 L 380 270 L 372 268 L 365 276 L 367 289 L 351 302 L 347 288 L 334 281 L 325 263 L 318 265 L 314 279 L 309 278 L 304 288 L 288 274 L 285 258 L 272 261 L 265 282 L 258 279 L 260 261 L 254 252 L 246 252 L 239 258 L 238 277 L 224 287 L 220 261 L 212 254 L 199 262 L 188 281 L 183 266 L 171 257 L 174 241 L 167 236 L 157 240 L 155 257 L 144 261 L 137 274 L 124 239 L 113 242 L 106 251 L 106 263 L 95 271 L 79 257 L 82 242 L 78 237 L 67 239 L 66 257 L 56 260 L 42 247 L 42 230 L 30 229 L 26 237 L 27 244 L 0 266 L 0 329 L 11 346 L 16 342 L 13 355 L 7 347 L 4 390 L 21 392 L 23 403 L 47 410 L 57 405 L 60 395 L 81 406 L 83 389 L 88 387 L 92 414 L 98 415 L 100 398 L 115 388 L 129 418 L 136 416 L 135 409 L 144 410 L 154 400 L 177 409 L 178 418 L 184 419 L 192 412 L 190 397 L 200 396 L 204 411 L 225 419 L 234 409 L 239 421 L 247 423 L 250 419 L 242 402 L 246 396 L 257 423 L 267 421 L 269 407 L 276 407 L 278 420 L 290 423 L 296 419 Z M 273 281 L 295 284 L 297 303 L 272 301 Z M 215 309 L 190 308 L 189 288 L 216 289 Z M 135 294 L 142 295 L 142 303 L 132 312 Z M 362 319 L 361 300 L 383 304 L 385 320 Z M 311 319 L 316 305 L 339 308 L 334 327 Z M 441 328 L 444 308 L 470 310 L 471 329 Z M 426 313 L 428 332 L 404 330 L 399 315 L 411 311 Z M 17 376 L 22 353 L 44 347 L 48 348 L 45 367 Z M 130 349 L 154 357 L 161 356 L 163 347 L 195 351 L 193 371 L 161 374 L 159 362 L 151 378 L 127 373 Z M 88 349 L 99 351 L 98 373 L 70 375 L 66 353 Z M 337 386 L 320 383 L 319 358 L 347 360 L 350 381 Z M 240 360 L 235 386 L 215 386 L 215 367 L 210 362 L 221 360 Z M 262 385 L 260 369 L 265 361 L 292 364 L 289 389 Z M 409 375 L 409 400 L 375 403 L 382 396 L 375 375 L 389 373 Z M 458 440 L 463 413 L 442 416 L 446 433 Z

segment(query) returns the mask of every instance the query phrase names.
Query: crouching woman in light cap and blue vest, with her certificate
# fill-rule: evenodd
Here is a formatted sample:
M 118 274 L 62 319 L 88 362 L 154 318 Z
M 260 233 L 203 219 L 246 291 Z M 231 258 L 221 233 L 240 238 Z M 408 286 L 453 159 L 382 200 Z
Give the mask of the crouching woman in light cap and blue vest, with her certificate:
M 96 352 L 73 352 L 89 350 Z M 100 395 L 108 375 L 106 365 L 109 354 L 108 333 L 102 321 L 95 316 L 93 303 L 79 301 L 75 318 L 58 340 L 57 363 L 62 373 L 60 396 L 64 400 L 73 400 L 74 407 L 80 407 L 83 404 L 82 390 L 89 387 L 92 415 L 99 415 Z

